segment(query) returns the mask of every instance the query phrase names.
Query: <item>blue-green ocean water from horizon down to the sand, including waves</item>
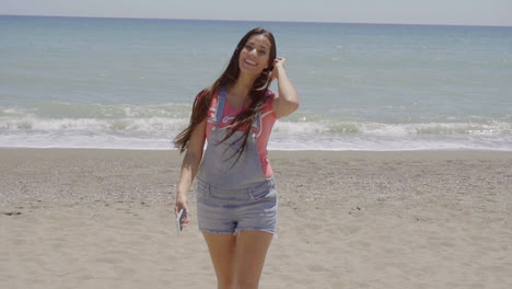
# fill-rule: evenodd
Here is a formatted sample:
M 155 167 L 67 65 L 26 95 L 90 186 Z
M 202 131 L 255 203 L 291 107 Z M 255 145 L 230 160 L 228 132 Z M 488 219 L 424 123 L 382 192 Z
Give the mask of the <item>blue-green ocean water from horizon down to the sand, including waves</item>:
M 173 149 L 255 26 L 301 99 L 269 149 L 512 151 L 512 27 L 38 16 L 0 16 L 0 147 Z

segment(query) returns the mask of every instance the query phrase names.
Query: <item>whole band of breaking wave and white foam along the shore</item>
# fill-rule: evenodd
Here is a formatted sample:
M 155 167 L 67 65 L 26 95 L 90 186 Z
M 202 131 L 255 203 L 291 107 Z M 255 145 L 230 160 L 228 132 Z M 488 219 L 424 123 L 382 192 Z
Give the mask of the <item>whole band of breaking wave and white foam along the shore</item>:
M 186 118 L 0 118 L 0 147 L 170 149 Z M 278 122 L 270 149 L 284 150 L 512 150 L 508 123 L 375 124 Z

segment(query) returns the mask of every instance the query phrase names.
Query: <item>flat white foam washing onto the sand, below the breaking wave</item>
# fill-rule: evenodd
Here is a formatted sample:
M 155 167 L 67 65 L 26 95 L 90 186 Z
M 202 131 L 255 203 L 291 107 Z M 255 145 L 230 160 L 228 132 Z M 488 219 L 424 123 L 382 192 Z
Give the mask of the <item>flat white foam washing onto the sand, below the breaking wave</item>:
M 91 131 L 38 131 L 0 135 L 0 147 L 15 148 L 101 148 L 101 149 L 173 149 L 174 131 L 139 132 L 91 132 Z M 499 150 L 512 151 L 512 137 L 489 136 L 330 136 L 330 135 L 289 135 L 272 134 L 270 150 Z

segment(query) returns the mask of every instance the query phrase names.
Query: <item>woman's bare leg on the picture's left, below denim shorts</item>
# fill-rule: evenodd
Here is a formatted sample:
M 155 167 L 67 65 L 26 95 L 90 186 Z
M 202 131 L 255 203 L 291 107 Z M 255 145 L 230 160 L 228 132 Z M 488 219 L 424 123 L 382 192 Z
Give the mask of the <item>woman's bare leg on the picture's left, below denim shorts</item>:
M 202 235 L 208 244 L 211 262 L 216 269 L 218 289 L 234 289 L 235 236 L 206 232 Z

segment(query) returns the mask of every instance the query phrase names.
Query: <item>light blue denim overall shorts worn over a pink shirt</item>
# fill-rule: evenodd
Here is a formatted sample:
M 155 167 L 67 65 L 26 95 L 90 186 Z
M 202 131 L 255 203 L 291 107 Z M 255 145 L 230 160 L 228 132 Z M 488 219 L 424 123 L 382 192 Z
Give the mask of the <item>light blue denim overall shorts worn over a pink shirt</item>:
M 235 131 L 222 141 L 230 130 L 216 126 L 221 122 L 225 99 L 226 89 L 222 88 L 214 125 L 197 175 L 199 230 L 235 235 L 243 230 L 276 234 L 276 185 L 274 176 L 267 178 L 264 175 L 258 155 L 260 117 L 253 123 L 253 131 L 238 158 L 244 131 Z

